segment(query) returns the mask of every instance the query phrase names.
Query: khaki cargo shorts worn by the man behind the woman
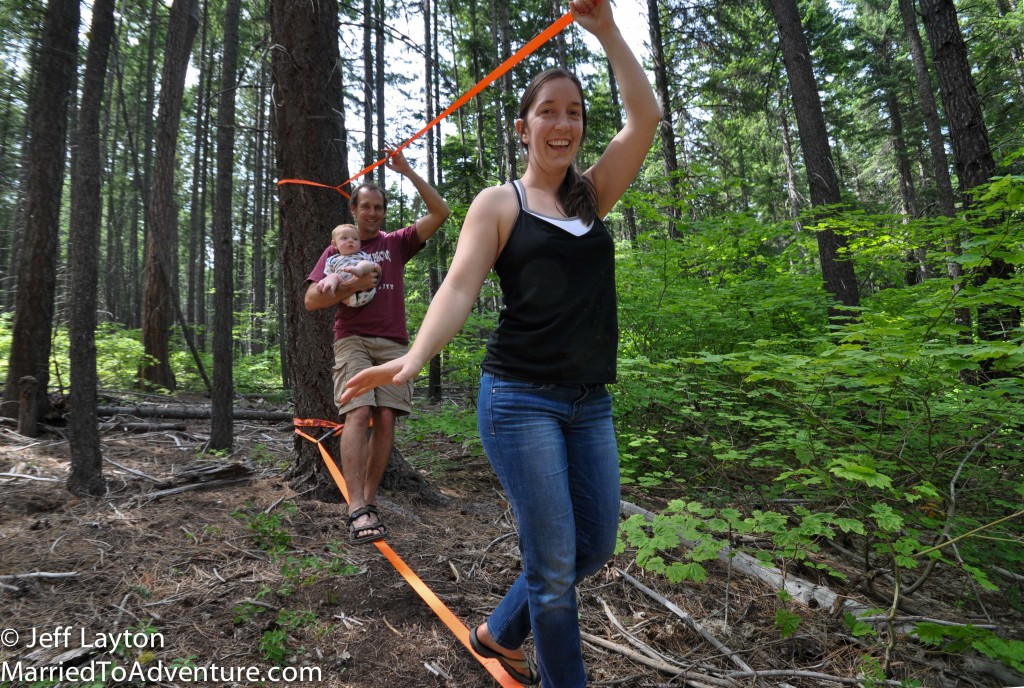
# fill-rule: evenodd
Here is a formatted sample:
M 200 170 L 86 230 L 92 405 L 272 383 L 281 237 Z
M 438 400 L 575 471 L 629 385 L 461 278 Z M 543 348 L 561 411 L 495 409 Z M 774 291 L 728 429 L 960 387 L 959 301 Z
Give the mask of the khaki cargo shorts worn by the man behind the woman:
M 382 385 L 354 399 L 349 399 L 344 406 L 338 404 L 345 383 L 356 373 L 394 360 L 404 355 L 409 347 L 383 337 L 361 337 L 351 335 L 342 337 L 334 343 L 334 402 L 338 405 L 338 414 L 344 416 L 352 408 L 359 406 L 386 406 L 394 408 L 399 416 L 406 416 L 413 410 L 413 381 L 404 385 Z

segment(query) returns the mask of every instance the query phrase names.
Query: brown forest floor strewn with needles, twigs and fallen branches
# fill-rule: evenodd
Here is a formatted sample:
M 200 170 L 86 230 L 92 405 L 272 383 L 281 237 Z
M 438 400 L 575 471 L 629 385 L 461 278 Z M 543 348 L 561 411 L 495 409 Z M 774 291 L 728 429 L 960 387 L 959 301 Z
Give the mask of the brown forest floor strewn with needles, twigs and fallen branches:
M 343 505 L 293 491 L 284 476 L 294 446 L 289 425 L 239 423 L 236 450 L 222 457 L 201 453 L 208 432 L 205 421 L 189 421 L 181 430 L 103 431 L 110 494 L 86 500 L 65 489 L 70 450 L 59 430 L 29 439 L 0 428 L 0 664 L 6 671 L 19 661 L 37 672 L 63 662 L 91 665 L 97 678 L 105 666 L 119 678 L 112 670 L 118 665 L 128 680 L 105 685 L 185 686 L 214 684 L 172 677 L 171 668 L 267 672 L 276 665 L 286 676 L 289 670 L 294 676 L 314 673 L 287 684 L 246 678 L 217 685 L 497 685 L 375 547 L 348 544 Z M 518 573 L 508 504 L 486 460 L 461 442 L 442 436 L 399 442 L 443 504 L 384 494 L 380 506 L 391 530 L 388 543 L 457 617 L 475 626 Z M 225 466 L 239 473 L 231 478 Z M 237 481 L 160 493 L 213 469 Z M 624 498 L 653 510 L 659 506 L 650 494 Z M 274 544 L 283 554 L 270 551 Z M 884 595 L 872 597 L 869 577 L 859 574 L 854 562 L 837 555 L 829 563 L 851 574 L 846 589 L 833 585 L 834 590 L 885 606 Z M 677 605 L 736 660 L 623 571 Z M 712 562 L 709 573 L 699 585 L 670 585 L 638 569 L 627 551 L 586 580 L 580 589 L 581 626 L 590 685 L 887 685 L 865 681 L 885 660 L 884 640 L 854 638 L 828 609 L 783 602 L 765 584 L 725 564 Z M 37 575 L 12 577 L 17 574 Z M 913 596 L 912 608 L 956 622 L 987 618 L 1004 637 L 1022 639 L 1017 586 L 979 593 L 963 576 L 936 575 Z M 774 626 L 780 608 L 801 619 L 787 637 Z M 154 635 L 136 635 L 142 631 Z M 117 638 L 122 647 L 114 648 Z M 897 639 L 889 658 L 888 685 L 1018 683 L 971 651 L 947 654 L 907 637 Z M 102 663 L 108 661 L 113 663 Z M 777 673 L 727 678 L 740 671 L 739 662 Z M 164 666 L 163 674 L 130 681 L 157 665 Z M 46 678 L 22 676 L 22 681 L 0 676 L 0 686 L 31 686 L 30 678 Z

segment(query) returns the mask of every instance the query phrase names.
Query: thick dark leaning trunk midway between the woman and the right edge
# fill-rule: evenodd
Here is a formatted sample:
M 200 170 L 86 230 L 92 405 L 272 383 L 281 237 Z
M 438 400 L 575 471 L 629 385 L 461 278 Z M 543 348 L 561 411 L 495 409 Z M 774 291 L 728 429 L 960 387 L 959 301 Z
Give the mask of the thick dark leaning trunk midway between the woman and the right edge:
M 811 54 L 804 37 L 797 0 L 772 0 L 771 6 L 790 79 L 790 94 L 797 113 L 797 130 L 807 168 L 811 205 L 824 211 L 819 214 L 819 218 L 822 218 L 827 215 L 826 208 L 838 205 L 841 199 L 821 98 L 818 96 L 817 82 L 811 67 Z M 819 229 L 816 236 L 825 290 L 842 306 L 859 305 L 860 294 L 853 262 L 842 255 L 847 246 L 846 236 L 837 234 L 830 228 Z M 829 314 L 840 317 L 852 315 L 850 310 L 843 307 L 829 307 Z

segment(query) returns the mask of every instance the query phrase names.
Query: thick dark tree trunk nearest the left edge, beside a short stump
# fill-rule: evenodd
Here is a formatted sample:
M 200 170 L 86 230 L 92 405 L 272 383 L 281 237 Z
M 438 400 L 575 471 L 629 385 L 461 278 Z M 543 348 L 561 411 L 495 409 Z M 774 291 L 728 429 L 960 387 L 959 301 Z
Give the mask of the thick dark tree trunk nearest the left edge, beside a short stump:
M 26 146 L 25 241 L 17 265 L 14 324 L 7 360 L 3 413 L 41 418 L 48 406 L 50 340 L 56 290 L 60 196 L 70 103 L 75 97 L 79 3 L 50 0 L 43 40 L 33 67 L 36 87 L 29 106 L 30 139 Z M 18 411 L 22 378 L 39 385 L 34 408 Z

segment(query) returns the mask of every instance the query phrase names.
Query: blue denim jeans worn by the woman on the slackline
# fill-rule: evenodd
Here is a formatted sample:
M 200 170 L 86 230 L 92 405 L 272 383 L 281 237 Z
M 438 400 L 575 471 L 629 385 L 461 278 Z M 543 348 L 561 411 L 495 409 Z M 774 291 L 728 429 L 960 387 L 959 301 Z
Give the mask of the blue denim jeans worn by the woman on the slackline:
M 604 385 L 480 379 L 483 448 L 519 525 L 523 572 L 487 619 L 514 649 L 530 630 L 541 680 L 583 688 L 575 585 L 611 558 L 618 529 L 618 450 Z

